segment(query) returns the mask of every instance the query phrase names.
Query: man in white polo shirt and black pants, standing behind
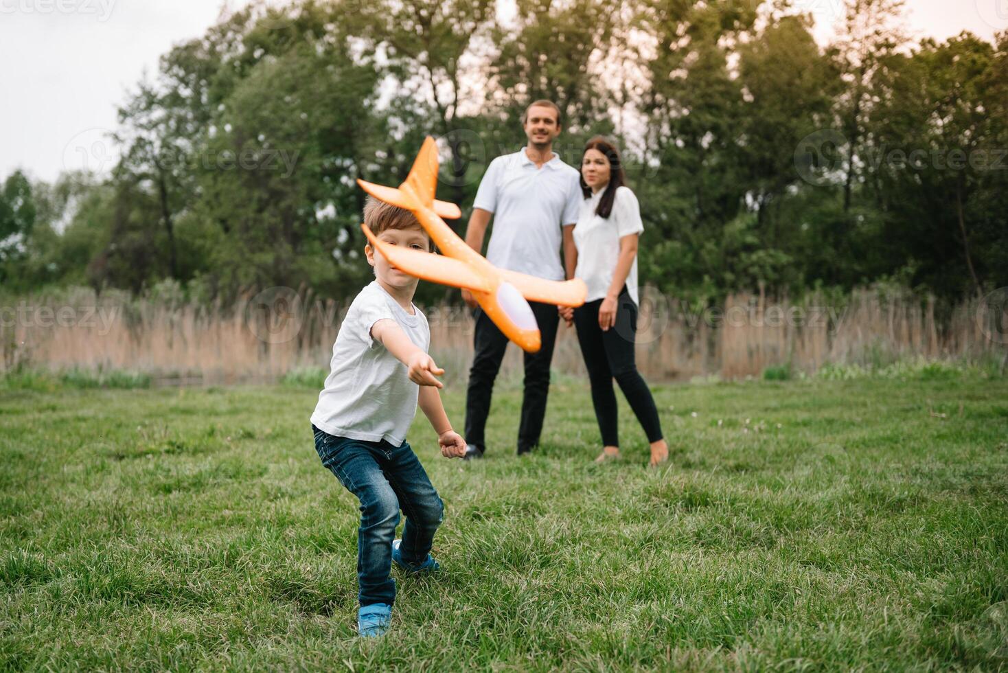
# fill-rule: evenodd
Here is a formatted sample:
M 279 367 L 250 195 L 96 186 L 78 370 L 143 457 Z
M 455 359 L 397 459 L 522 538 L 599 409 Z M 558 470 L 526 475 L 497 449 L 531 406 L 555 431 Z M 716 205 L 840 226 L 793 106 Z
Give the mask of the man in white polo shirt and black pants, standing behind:
M 535 101 L 521 119 L 528 144 L 513 154 L 490 162 L 473 204 L 466 230 L 466 243 L 477 252 L 490 219 L 494 230 L 487 259 L 496 266 L 548 280 L 574 275 L 574 226 L 578 222 L 582 191 L 578 169 L 560 161 L 552 151 L 560 133 L 560 110 L 551 101 Z M 560 264 L 562 243 L 564 264 Z M 462 297 L 471 307 L 477 303 L 469 290 Z M 539 323 L 542 348 L 525 354 L 524 397 L 518 426 L 518 454 L 539 441 L 549 393 L 549 364 L 553 358 L 559 316 L 556 306 L 530 301 Z M 484 429 L 490 413 L 494 380 L 507 347 L 505 336 L 484 314 L 476 312 L 476 355 L 469 371 L 466 395 L 466 458 L 482 457 L 487 450 Z

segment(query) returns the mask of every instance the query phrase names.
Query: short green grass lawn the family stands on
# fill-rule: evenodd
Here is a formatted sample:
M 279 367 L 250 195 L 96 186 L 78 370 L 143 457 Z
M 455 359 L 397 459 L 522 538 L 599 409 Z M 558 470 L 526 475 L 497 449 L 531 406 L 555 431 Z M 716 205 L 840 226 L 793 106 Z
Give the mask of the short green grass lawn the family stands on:
M 592 462 L 585 382 L 520 459 L 513 388 L 483 461 L 418 414 L 443 571 L 362 642 L 317 391 L 0 390 L 0 669 L 1008 670 L 1008 381 L 655 395 L 661 470 L 626 406 Z

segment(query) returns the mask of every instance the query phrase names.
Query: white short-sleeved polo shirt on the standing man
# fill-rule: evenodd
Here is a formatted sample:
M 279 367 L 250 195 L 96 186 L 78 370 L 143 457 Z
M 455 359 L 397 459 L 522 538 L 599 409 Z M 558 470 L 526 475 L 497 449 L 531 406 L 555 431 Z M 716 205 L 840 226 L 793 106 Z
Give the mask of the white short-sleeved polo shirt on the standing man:
M 494 214 L 487 259 L 502 269 L 563 280 L 561 227 L 578 222 L 584 194 L 577 168 L 554 152 L 541 168 L 525 148 L 490 162 L 474 208 Z

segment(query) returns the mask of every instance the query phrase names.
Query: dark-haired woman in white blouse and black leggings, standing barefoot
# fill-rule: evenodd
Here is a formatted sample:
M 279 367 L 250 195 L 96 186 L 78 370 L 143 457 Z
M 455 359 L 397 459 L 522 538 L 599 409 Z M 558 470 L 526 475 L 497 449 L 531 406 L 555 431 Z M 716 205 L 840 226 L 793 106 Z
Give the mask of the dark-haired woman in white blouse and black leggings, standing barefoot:
M 637 197 L 623 182 L 616 147 L 601 136 L 589 140 L 581 161 L 585 200 L 574 229 L 575 276 L 588 285 L 588 296 L 584 306 L 560 308 L 560 314 L 569 324 L 573 318 L 588 367 L 592 402 L 602 431 L 603 449 L 596 460 L 620 455 L 615 378 L 651 443 L 653 467 L 668 459 L 668 444 L 661 433 L 654 398 L 634 362 L 637 239 L 644 226 Z

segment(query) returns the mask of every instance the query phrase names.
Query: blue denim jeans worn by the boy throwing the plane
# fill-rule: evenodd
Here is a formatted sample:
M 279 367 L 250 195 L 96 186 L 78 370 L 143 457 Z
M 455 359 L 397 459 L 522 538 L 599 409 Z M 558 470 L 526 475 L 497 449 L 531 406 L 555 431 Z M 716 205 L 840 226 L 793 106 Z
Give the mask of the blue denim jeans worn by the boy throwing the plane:
M 314 425 L 316 450 L 322 463 L 361 501 L 357 533 L 357 580 L 361 607 L 395 602 L 392 540 L 399 510 L 406 515 L 402 560 L 422 563 L 430 552 L 445 505 L 409 444 L 337 437 Z

